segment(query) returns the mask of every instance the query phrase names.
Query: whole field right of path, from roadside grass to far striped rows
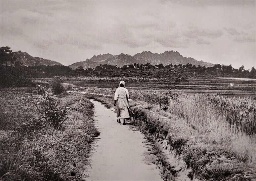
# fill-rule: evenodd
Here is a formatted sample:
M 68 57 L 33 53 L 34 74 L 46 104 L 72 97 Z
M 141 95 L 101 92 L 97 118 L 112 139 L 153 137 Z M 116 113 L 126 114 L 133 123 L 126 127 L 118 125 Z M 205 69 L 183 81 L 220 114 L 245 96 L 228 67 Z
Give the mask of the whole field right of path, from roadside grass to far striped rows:
M 96 82 L 75 84 L 88 97 L 111 107 L 116 86 L 107 81 Z M 131 123 L 153 145 L 166 141 L 162 152 L 167 149 L 172 155 L 174 151 L 175 157 L 192 169 L 191 178 L 256 178 L 255 82 L 194 80 L 176 85 L 162 82 L 126 85 L 135 112 Z M 161 159 L 159 162 L 164 163 Z M 175 180 L 177 170 L 169 169 L 172 165 L 165 163 L 161 167 L 165 168 L 166 180 Z

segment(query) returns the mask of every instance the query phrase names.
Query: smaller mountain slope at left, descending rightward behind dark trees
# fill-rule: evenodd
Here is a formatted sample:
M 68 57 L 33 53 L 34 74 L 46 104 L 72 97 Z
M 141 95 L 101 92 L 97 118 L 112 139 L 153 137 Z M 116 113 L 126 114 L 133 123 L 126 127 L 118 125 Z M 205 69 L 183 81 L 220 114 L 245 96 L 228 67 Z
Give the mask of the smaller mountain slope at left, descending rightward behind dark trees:
M 13 52 L 13 55 L 16 57 L 16 61 L 21 62 L 25 66 L 36 66 L 36 65 L 62 65 L 61 63 L 49 59 L 44 59 L 40 57 L 33 57 L 26 52 Z

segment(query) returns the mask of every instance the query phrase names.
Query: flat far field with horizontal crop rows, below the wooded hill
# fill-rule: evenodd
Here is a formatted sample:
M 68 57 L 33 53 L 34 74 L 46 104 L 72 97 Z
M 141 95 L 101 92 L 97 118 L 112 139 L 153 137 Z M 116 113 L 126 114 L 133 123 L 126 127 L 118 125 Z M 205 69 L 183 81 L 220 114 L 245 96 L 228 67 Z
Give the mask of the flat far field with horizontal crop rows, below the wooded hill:
M 48 81 L 49 79 L 35 79 Z M 63 78 L 63 82 L 82 88 L 112 88 L 115 89 L 120 80 L 126 82 L 127 89 L 138 91 L 169 91 L 171 93 L 205 93 L 219 94 L 230 97 L 250 97 L 256 99 L 256 79 L 196 79 L 187 82 L 173 83 L 168 79 L 147 78 L 101 78 L 74 77 Z

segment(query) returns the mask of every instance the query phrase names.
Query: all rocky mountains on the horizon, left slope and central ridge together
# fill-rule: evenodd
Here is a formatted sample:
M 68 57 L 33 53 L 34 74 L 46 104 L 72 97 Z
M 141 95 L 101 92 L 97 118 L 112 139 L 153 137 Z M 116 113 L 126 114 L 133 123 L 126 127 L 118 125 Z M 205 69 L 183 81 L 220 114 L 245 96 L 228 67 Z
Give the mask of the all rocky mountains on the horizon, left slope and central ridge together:
M 53 65 L 62 65 L 61 63 L 49 59 L 44 59 L 40 57 L 33 57 L 26 52 L 13 52 L 14 56 L 16 57 L 16 61 L 21 62 L 21 64 L 25 66 L 36 66 L 36 65 L 46 65 L 46 66 L 53 66 Z M 90 59 L 86 59 L 85 61 L 80 61 L 69 65 L 69 68 L 76 69 L 78 67 L 82 67 L 84 69 L 87 68 L 95 68 L 97 65 L 103 64 L 110 64 L 110 65 L 117 65 L 118 67 L 123 67 L 124 65 L 139 63 L 139 64 L 146 64 L 150 63 L 151 65 L 158 65 L 162 63 L 164 66 L 169 64 L 176 64 L 179 63 L 186 65 L 187 63 L 191 63 L 192 65 L 198 65 L 205 67 L 212 67 L 214 64 L 207 63 L 204 61 L 197 61 L 191 57 L 183 57 L 179 52 L 174 51 L 166 51 L 161 54 L 153 54 L 150 51 L 145 51 L 142 53 L 135 54 L 133 56 L 129 54 L 119 54 L 119 55 L 112 55 L 112 54 L 100 54 L 94 55 Z

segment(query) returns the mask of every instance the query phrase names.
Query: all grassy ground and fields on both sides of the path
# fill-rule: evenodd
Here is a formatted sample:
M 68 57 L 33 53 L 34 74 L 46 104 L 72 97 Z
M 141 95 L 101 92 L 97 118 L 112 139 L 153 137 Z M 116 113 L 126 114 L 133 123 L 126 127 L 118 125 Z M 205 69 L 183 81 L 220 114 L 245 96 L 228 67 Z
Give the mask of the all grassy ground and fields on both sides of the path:
M 46 87 L 54 82 L 31 80 Z M 54 89 L 42 87 L 0 91 L 1 179 L 84 176 L 81 170 L 90 164 L 91 143 L 98 134 L 88 98 L 113 107 L 122 78 L 60 80 L 68 94 L 53 95 Z M 123 80 L 135 113 L 130 124 L 153 146 L 151 154 L 157 157 L 164 180 L 175 180 L 182 172 L 199 180 L 256 179 L 255 80 Z

